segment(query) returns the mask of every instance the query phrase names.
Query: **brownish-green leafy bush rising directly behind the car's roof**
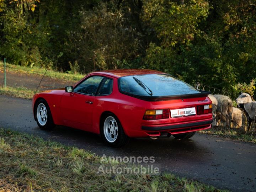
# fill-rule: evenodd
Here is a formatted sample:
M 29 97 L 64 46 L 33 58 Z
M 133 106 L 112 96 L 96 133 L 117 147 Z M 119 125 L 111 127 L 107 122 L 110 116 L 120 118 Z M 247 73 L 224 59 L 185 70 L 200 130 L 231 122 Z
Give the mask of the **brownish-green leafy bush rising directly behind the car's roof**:
M 117 69 L 120 60 L 136 57 L 139 42 L 134 30 L 125 25 L 123 13 L 112 6 L 101 3 L 92 10 L 80 11 L 80 28 L 70 32 L 70 45 L 79 53 L 80 69 Z

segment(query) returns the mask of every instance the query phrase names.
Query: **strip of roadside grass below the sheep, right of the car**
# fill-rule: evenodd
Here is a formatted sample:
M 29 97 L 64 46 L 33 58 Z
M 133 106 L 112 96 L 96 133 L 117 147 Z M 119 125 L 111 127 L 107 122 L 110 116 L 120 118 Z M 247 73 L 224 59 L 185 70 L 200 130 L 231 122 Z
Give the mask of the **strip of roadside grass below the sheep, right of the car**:
M 201 130 L 200 133 L 218 135 L 224 138 L 236 139 L 244 142 L 256 143 L 255 133 L 243 133 L 240 129 L 228 129 L 225 127 L 210 128 L 207 130 Z

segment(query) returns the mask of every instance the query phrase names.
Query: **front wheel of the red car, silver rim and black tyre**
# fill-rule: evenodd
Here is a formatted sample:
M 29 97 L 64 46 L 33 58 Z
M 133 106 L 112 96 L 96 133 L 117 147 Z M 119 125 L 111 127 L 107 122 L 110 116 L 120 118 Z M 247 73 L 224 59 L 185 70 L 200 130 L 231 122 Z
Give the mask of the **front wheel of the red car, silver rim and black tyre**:
M 38 127 L 45 130 L 52 129 L 54 127 L 52 114 L 45 100 L 41 99 L 36 103 L 35 115 Z

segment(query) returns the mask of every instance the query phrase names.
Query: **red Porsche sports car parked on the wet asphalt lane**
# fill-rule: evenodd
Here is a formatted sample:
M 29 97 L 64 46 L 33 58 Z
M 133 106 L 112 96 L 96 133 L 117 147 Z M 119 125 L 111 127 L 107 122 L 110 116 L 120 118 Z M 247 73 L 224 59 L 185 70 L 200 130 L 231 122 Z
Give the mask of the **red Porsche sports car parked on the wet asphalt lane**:
M 185 139 L 209 129 L 208 94 L 160 71 L 122 69 L 90 73 L 74 86 L 34 95 L 32 102 L 40 128 L 82 129 L 117 147 L 129 137 Z

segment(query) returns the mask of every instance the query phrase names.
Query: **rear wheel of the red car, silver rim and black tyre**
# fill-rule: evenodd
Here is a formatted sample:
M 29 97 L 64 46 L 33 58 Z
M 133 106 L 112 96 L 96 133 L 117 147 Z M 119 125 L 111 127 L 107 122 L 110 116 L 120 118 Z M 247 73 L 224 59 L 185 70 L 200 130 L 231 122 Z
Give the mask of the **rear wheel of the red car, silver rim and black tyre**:
M 102 118 L 101 136 L 112 147 L 120 147 L 129 142 L 129 137 L 124 133 L 120 121 L 112 113 L 108 113 Z

